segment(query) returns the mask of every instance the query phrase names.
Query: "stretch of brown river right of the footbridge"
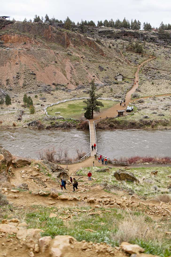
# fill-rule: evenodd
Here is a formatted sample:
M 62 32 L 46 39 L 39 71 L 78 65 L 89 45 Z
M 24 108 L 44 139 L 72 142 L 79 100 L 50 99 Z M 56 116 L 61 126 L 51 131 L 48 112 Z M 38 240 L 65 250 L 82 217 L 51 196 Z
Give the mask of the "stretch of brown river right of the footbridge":
M 171 156 L 171 130 L 96 130 L 97 151 L 109 158 Z

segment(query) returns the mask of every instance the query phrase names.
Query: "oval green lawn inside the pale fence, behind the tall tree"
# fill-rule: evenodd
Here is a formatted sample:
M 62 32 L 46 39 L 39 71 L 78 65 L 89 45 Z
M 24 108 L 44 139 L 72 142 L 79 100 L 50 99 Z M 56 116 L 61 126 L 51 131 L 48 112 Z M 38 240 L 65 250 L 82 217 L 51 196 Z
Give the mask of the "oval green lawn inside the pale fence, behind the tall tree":
M 101 112 L 118 103 L 110 100 L 100 100 L 100 102 L 104 104 L 104 107 L 100 108 Z M 60 104 L 48 107 L 47 113 L 49 115 L 54 115 L 54 116 L 60 115 L 60 116 L 63 116 L 64 118 L 81 118 L 82 116 L 84 116 L 84 113 L 85 113 L 85 110 L 83 110 L 84 106 L 86 106 L 86 104 L 83 103 L 83 100 L 67 101 L 65 103 L 60 103 Z M 61 112 L 61 113 L 55 114 L 55 112 Z

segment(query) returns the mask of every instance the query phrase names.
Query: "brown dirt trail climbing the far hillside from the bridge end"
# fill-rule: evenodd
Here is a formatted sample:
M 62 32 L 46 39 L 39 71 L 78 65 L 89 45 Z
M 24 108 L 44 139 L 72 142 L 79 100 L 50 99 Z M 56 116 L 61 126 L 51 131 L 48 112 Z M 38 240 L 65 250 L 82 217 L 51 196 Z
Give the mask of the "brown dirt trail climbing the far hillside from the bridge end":
M 139 86 L 138 72 L 139 72 L 140 68 L 144 65 L 144 63 L 146 63 L 148 61 L 151 61 L 151 60 L 153 60 L 155 58 L 156 57 L 151 57 L 148 60 L 146 60 L 146 61 L 144 61 L 144 62 L 142 62 L 141 64 L 138 65 L 138 68 L 137 68 L 137 70 L 135 72 L 134 86 L 126 93 L 126 97 L 125 97 L 125 105 L 126 106 L 129 105 L 129 101 L 131 99 L 132 93 L 134 93 L 136 88 Z M 111 107 L 111 108 L 109 108 L 107 110 L 104 110 L 100 114 L 95 114 L 94 115 L 94 120 L 98 120 L 98 119 L 100 119 L 100 117 L 101 118 L 105 118 L 106 116 L 107 117 L 114 117 L 114 116 L 116 116 L 118 114 L 117 110 L 124 110 L 124 109 L 125 109 L 125 107 L 123 107 L 122 105 L 120 106 L 120 103 L 118 103 L 115 106 L 113 106 L 113 107 Z M 90 124 L 92 124 L 94 120 L 90 120 Z

